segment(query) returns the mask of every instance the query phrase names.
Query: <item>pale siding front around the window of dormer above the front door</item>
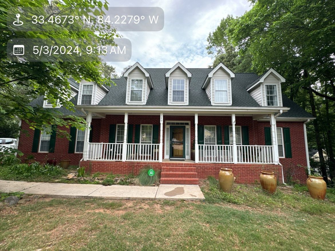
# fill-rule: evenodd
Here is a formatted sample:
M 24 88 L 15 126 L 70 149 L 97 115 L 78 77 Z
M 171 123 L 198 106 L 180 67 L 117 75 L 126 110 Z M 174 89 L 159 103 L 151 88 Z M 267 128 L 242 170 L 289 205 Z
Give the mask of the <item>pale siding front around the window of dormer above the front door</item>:
M 173 91 L 172 84 L 174 81 L 178 81 L 177 83 L 179 85 L 180 80 L 184 81 L 184 90 L 183 90 L 184 91 L 184 102 L 173 101 L 174 91 Z M 169 89 L 169 100 L 168 100 L 169 105 L 188 105 L 188 91 L 189 91 L 188 77 L 187 77 L 187 74 L 180 67 L 176 68 L 170 74 L 168 89 Z M 176 89 L 176 91 L 178 91 L 178 89 Z

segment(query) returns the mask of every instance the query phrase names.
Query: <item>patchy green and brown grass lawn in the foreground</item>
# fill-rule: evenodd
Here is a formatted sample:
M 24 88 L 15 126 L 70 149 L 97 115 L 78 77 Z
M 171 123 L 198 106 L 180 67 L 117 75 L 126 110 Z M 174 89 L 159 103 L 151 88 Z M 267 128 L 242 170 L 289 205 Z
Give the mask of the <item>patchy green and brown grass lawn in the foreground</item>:
M 335 250 L 335 192 L 202 184 L 206 200 L 41 198 L 0 211 L 0 250 Z M 222 195 L 223 194 L 223 195 Z M 230 202 L 227 202 L 230 201 Z

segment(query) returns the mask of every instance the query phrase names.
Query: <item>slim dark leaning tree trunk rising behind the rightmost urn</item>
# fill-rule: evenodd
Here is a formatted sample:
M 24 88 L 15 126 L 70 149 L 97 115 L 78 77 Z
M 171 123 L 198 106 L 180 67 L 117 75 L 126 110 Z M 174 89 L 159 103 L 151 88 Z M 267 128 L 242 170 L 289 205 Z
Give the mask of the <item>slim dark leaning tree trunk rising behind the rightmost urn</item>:
M 328 183 L 327 167 L 326 167 L 326 163 L 325 163 L 325 158 L 323 157 L 323 148 L 322 148 L 323 146 L 322 146 L 321 138 L 320 138 L 320 129 L 319 129 L 319 123 L 318 123 L 318 118 L 317 118 L 316 109 L 315 109 L 312 87 L 309 86 L 308 90 L 309 90 L 309 95 L 310 95 L 310 104 L 311 104 L 311 108 L 312 108 L 312 115 L 314 117 L 316 117 L 316 119 L 313 119 L 313 124 L 314 124 L 314 128 L 315 128 L 316 144 L 318 146 L 321 174 L 323 176 L 323 179 Z

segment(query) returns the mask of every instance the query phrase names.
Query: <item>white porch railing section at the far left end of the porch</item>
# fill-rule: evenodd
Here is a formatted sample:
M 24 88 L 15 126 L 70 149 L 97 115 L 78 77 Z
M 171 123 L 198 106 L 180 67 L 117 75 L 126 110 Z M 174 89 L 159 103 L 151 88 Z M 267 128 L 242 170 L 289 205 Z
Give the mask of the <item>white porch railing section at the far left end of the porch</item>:
M 122 160 L 122 143 L 88 143 L 88 160 Z

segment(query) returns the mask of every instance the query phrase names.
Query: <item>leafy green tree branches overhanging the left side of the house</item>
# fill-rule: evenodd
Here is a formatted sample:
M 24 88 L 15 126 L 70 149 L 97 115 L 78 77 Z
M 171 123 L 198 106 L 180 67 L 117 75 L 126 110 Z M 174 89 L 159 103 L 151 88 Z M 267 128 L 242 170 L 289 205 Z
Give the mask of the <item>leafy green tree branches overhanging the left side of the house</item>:
M 64 55 L 67 60 L 54 62 L 27 62 L 18 58 L 18 62 L 10 61 L 7 58 L 6 45 L 9 39 L 15 38 L 34 38 L 46 41 L 46 43 L 55 43 L 62 41 L 65 47 L 78 45 L 80 49 L 85 49 L 87 45 L 115 45 L 115 28 L 106 24 L 105 26 L 91 25 L 83 26 L 81 22 L 60 23 L 57 25 L 45 26 L 41 24 L 30 24 L 30 30 L 13 31 L 6 26 L 7 18 L 13 18 L 10 9 L 24 9 L 26 15 L 22 18 L 31 18 L 32 15 L 44 15 L 46 19 L 56 15 L 88 16 L 103 15 L 104 8 L 108 9 L 107 3 L 98 0 L 0 0 L 0 27 L 1 44 L 0 49 L 0 96 L 1 113 L 0 121 L 8 117 L 17 115 L 20 119 L 26 121 L 31 128 L 51 131 L 51 125 L 57 124 L 59 127 L 75 126 L 78 129 L 85 129 L 85 120 L 76 116 L 63 116 L 56 109 L 43 109 L 41 106 L 32 107 L 29 101 L 24 99 L 24 95 L 17 93 L 17 87 L 27 87 L 28 96 L 46 95 L 54 106 L 59 102 L 63 107 L 74 110 L 74 105 L 69 101 L 70 84 L 68 78 L 74 78 L 77 82 L 81 79 L 94 81 L 98 84 L 106 83 L 99 70 L 101 61 L 98 55 L 90 55 L 90 60 L 78 62 L 71 60 L 71 55 Z M 35 12 L 34 12 L 35 9 Z M 39 13 L 36 13 L 36 11 Z M 50 85 L 53 84 L 53 86 Z M 59 128 L 58 127 L 58 128 Z M 58 129 L 59 130 L 59 129 Z M 59 133 L 69 136 L 65 131 L 59 130 Z

